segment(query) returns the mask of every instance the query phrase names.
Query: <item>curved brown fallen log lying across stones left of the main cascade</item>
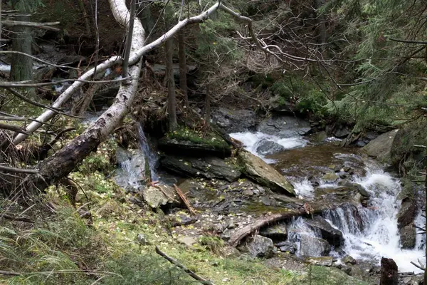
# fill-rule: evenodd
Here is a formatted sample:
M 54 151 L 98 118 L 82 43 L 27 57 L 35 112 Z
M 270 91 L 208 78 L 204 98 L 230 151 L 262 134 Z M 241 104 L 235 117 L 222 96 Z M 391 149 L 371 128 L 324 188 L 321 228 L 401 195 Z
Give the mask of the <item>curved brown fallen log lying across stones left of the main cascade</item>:
M 306 203 L 307 204 L 307 203 Z M 345 204 L 345 203 L 342 203 Z M 334 207 L 330 207 L 328 205 L 319 206 L 315 209 L 312 209 L 310 206 L 310 210 L 307 210 L 307 207 L 302 207 L 301 209 L 295 209 L 295 210 L 288 210 L 287 212 L 283 213 L 277 213 L 277 214 L 270 214 L 263 217 L 260 217 L 260 219 L 255 220 L 252 224 L 248 224 L 246 227 L 242 227 L 241 229 L 237 229 L 231 234 L 230 239 L 228 240 L 228 244 L 230 244 L 232 247 L 238 246 L 238 244 L 241 242 L 242 239 L 245 237 L 248 237 L 249 234 L 253 234 L 254 232 L 258 231 L 261 227 L 264 227 L 268 224 L 271 224 L 273 222 L 279 222 L 283 221 L 285 219 L 290 219 L 292 217 L 302 216 L 306 214 L 320 214 L 325 209 L 332 209 L 342 206 L 342 204 L 334 205 Z

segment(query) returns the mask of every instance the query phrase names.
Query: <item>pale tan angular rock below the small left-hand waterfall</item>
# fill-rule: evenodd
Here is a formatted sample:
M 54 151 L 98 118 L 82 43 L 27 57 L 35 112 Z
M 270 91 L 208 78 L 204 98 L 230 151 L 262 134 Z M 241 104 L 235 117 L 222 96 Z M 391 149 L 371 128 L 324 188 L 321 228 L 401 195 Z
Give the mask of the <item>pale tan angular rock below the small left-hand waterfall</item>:
M 141 187 L 141 194 L 144 202 L 153 209 L 166 204 L 174 204 L 179 201 L 172 186 L 157 185 L 156 187 Z

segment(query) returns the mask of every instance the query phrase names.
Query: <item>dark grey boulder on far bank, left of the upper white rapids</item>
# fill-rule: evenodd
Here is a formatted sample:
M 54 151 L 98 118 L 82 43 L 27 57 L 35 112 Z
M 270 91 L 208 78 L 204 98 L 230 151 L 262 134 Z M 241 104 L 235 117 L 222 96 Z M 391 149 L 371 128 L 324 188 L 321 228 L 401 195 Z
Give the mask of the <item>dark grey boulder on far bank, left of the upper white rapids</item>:
M 255 112 L 218 108 L 212 113 L 212 121 L 227 133 L 246 132 L 255 127 Z

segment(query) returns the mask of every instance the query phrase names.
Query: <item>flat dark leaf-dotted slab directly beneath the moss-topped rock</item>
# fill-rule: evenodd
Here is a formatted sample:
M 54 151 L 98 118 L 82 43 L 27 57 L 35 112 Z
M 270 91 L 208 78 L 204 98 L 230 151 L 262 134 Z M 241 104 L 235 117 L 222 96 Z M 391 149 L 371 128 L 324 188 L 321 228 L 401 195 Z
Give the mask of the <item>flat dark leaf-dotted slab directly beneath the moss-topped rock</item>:
M 166 156 L 160 160 L 160 165 L 179 175 L 188 177 L 204 177 L 221 179 L 233 182 L 241 177 L 241 172 L 231 160 L 222 160 L 218 157 L 178 157 Z

